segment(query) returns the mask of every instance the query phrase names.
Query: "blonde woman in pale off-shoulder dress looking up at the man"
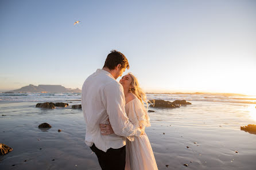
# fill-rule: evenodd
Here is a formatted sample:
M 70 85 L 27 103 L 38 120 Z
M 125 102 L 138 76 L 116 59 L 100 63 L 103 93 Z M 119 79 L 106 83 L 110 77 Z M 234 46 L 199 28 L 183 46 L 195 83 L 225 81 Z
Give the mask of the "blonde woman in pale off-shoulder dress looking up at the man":
M 134 126 L 137 126 L 137 128 L 145 130 L 145 127 L 150 126 L 150 122 L 143 101 L 147 104 L 147 107 L 148 102 L 146 102 L 145 93 L 139 88 L 137 78 L 133 74 L 128 73 L 122 77 L 120 84 L 122 84 L 125 93 L 125 112 L 129 120 Z M 158 169 L 146 133 L 143 133 L 143 135 L 139 137 L 127 137 L 127 139 L 125 170 Z

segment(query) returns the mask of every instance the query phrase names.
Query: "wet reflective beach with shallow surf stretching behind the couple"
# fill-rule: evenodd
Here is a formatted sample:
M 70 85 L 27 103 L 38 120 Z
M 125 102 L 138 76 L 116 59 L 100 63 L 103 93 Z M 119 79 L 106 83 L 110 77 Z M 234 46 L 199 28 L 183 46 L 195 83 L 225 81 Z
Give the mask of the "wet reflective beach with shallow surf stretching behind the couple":
M 150 100 L 187 100 L 180 108 L 149 108 L 146 128 L 158 169 L 254 169 L 256 135 L 240 126 L 256 124 L 256 97 L 238 94 L 147 94 Z M 0 94 L 0 169 L 100 169 L 84 143 L 86 124 L 80 93 Z M 67 102 L 67 108 L 36 108 L 38 102 Z M 51 129 L 39 129 L 47 122 Z M 58 132 L 61 129 L 61 132 Z M 185 166 L 187 164 L 188 166 Z

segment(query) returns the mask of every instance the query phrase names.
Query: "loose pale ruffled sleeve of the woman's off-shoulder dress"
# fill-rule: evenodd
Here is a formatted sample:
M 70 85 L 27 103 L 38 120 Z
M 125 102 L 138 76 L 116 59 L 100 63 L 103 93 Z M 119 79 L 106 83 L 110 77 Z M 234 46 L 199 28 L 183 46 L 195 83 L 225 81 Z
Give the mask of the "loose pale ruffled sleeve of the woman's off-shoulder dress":
M 131 104 L 129 108 L 129 115 L 130 114 L 133 115 L 131 116 L 130 121 L 133 122 L 134 126 L 141 126 L 142 128 L 151 126 L 148 112 L 145 106 L 142 105 L 141 101 L 138 98 L 135 98 L 135 100 Z

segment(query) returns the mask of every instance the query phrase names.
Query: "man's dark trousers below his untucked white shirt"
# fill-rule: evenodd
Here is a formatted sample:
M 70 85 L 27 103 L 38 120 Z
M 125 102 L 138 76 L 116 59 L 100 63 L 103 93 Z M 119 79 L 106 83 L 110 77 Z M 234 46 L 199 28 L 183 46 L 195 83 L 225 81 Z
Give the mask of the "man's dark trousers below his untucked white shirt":
M 96 148 L 95 144 L 90 148 L 98 157 L 102 170 L 125 170 L 125 146 L 119 149 L 109 148 L 107 152 Z

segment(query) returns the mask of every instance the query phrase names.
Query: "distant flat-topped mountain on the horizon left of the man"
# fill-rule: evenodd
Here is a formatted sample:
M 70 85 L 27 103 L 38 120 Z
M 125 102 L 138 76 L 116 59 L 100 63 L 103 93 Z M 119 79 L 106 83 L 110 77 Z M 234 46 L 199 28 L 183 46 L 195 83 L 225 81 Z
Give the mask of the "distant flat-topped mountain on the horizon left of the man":
M 32 84 L 28 86 L 24 86 L 17 90 L 11 90 L 8 92 L 30 92 L 30 93 L 40 93 L 40 92 L 48 92 L 48 93 L 81 93 L 82 90 L 79 88 L 76 89 L 70 89 L 65 88 L 61 85 L 38 85 L 34 86 Z

